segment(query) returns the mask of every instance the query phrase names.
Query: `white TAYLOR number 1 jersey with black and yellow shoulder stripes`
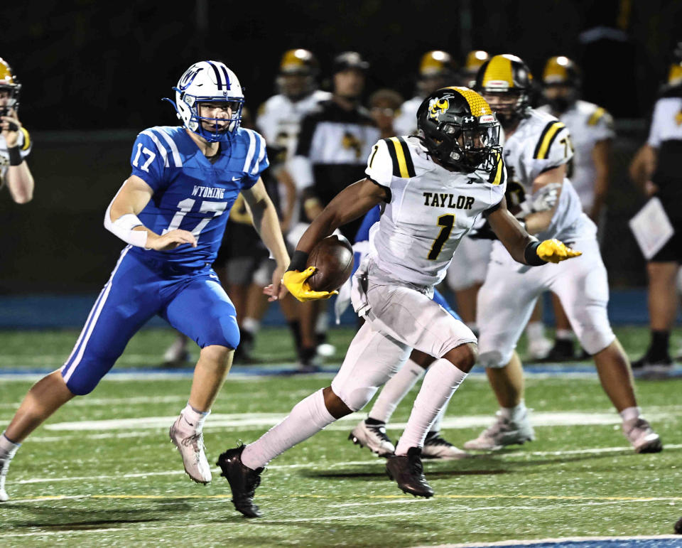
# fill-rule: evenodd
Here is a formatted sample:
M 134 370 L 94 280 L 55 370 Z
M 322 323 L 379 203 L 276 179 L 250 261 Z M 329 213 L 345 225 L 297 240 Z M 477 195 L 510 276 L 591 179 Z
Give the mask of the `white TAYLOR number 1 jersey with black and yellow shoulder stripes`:
M 381 139 L 369 154 L 367 177 L 390 191 L 370 231 L 370 257 L 381 278 L 429 290 L 445 277 L 455 249 L 506 186 L 502 158 L 494 173 L 448 171 L 416 137 Z

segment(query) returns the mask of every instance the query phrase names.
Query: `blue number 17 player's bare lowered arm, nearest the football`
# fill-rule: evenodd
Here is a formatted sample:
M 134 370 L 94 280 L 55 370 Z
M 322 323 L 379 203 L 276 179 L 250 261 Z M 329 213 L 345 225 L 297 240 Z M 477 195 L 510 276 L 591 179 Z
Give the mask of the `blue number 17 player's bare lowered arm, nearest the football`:
M 289 264 L 289 254 L 284 244 L 277 211 L 265 190 L 263 179 L 259 179 L 248 190 L 242 190 L 242 195 L 244 196 L 247 208 L 251 212 L 254 227 L 277 262 L 277 268 L 272 275 L 272 286 L 269 288 L 270 292 L 268 293 L 270 300 L 282 299 L 286 295 L 286 287 L 281 284 L 281 279 Z

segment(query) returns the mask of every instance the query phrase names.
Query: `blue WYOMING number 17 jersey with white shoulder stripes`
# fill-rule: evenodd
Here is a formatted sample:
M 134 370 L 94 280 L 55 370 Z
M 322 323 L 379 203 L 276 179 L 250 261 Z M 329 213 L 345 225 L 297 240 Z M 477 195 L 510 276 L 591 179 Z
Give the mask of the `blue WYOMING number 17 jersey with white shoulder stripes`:
M 204 156 L 183 127 L 141 131 L 131 155 L 132 175 L 151 186 L 154 195 L 138 217 L 156 234 L 192 232 L 197 247 L 181 245 L 171 251 L 133 247 L 131 252 L 183 269 L 215 260 L 234 200 L 269 166 L 265 139 L 251 129 L 237 129 L 234 139 L 220 143 L 217 156 Z

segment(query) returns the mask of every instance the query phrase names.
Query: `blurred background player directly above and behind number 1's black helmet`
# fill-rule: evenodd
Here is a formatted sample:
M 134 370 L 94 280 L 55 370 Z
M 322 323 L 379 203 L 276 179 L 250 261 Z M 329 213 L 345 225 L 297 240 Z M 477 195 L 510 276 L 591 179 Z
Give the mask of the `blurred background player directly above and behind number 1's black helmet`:
M 424 97 L 435 90 L 448 85 L 455 85 L 455 61 L 447 51 L 432 50 L 421 56 L 419 73 L 414 97 L 406 100 L 401 107 L 393 127 L 396 135 L 412 135 L 417 131 L 416 114 Z

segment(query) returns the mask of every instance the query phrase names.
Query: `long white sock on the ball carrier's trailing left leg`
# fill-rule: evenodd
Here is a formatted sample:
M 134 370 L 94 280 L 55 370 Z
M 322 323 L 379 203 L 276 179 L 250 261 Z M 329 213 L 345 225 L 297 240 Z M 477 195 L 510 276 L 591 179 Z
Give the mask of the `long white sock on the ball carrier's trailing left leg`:
M 336 419 L 325 406 L 322 389 L 298 402 L 288 417 L 244 448 L 242 463 L 252 470 L 263 468 L 276 456 L 317 434 Z

